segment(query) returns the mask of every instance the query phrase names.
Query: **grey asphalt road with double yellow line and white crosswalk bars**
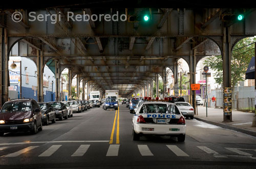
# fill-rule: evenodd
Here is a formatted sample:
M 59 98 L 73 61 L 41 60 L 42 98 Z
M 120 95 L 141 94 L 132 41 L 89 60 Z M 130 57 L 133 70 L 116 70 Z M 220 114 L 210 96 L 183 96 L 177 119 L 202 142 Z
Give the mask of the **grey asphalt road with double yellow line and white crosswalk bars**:
M 186 120 L 184 143 L 168 136 L 132 140 L 125 105 L 92 108 L 43 126 L 36 135 L 0 137 L 0 168 L 255 168 L 256 137 Z

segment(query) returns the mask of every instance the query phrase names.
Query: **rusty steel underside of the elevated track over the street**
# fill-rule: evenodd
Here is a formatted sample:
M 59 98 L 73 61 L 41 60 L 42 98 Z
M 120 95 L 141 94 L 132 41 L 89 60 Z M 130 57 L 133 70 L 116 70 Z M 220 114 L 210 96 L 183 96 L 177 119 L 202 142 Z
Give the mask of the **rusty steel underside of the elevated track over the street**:
M 217 16 L 225 13 L 226 9 L 152 8 L 152 19 L 148 22 L 81 22 L 68 21 L 65 17 L 68 12 L 113 16 L 118 11 L 120 16 L 125 13 L 143 14 L 147 10 L 150 9 L 28 9 L 24 20 L 16 23 L 11 20 L 14 10 L 6 9 L 6 20 L 0 20 L 0 24 L 8 29 L 8 36 L 13 39 L 11 42 L 24 38 L 19 41 L 23 46 L 19 55 L 33 59 L 37 55 L 36 50 L 40 50 L 46 62 L 59 61 L 62 70 L 69 68 L 73 74 L 79 73 L 81 78 L 93 82 L 101 90 L 114 87 L 123 95 L 157 74 L 163 74 L 165 67 L 173 69 L 178 59 L 188 62 L 191 50 L 195 49 L 199 58 L 221 54 L 217 44 L 206 36 L 223 35 L 223 22 Z M 43 15 L 60 14 L 61 20 L 56 24 L 50 19 L 45 22 L 28 21 L 31 11 Z M 212 18 L 204 19 L 209 12 Z M 205 29 L 200 29 L 201 26 Z

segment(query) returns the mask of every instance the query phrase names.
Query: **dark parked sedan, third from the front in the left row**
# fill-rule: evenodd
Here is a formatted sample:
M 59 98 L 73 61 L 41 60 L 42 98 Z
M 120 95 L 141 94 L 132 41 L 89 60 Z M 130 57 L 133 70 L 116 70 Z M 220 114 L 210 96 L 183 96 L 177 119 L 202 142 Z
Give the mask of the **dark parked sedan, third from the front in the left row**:
M 66 105 L 60 101 L 49 102 L 49 104 L 55 109 L 56 118 L 58 118 L 60 121 L 62 121 L 63 118 L 68 119 L 68 109 Z

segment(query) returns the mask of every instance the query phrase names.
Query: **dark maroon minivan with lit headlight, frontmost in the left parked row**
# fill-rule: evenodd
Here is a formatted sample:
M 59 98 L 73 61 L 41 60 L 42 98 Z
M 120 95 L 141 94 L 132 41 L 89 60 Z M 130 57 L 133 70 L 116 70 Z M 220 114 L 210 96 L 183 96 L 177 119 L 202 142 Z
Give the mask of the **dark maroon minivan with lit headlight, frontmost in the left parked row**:
M 42 130 L 42 114 L 34 99 L 16 99 L 5 102 L 0 111 L 0 136 L 7 132 Z

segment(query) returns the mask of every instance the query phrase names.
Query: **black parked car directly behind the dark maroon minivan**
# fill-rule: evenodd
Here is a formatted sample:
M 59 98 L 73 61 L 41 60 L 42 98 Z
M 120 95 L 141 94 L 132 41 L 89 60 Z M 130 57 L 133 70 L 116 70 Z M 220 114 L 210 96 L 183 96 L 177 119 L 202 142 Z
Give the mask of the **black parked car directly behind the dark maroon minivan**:
M 38 105 L 42 113 L 42 123 L 44 125 L 49 125 L 49 121 L 52 123 L 56 122 L 56 114 L 54 108 L 46 102 L 38 102 Z

